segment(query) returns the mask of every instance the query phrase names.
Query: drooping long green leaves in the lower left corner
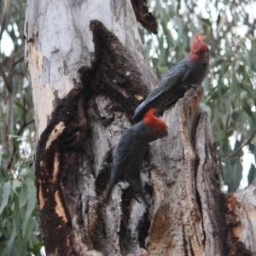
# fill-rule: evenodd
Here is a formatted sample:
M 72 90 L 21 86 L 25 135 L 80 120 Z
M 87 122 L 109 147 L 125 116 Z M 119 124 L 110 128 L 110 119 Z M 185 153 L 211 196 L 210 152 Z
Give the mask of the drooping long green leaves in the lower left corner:
M 40 255 L 39 211 L 36 208 L 34 174 L 26 168 L 19 177 L 0 172 L 0 253 Z

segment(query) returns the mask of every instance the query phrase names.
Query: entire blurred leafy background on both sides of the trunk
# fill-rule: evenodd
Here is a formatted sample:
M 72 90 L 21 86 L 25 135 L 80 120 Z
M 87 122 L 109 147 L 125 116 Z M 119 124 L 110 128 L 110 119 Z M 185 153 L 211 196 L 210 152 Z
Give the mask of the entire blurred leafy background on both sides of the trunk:
M 1 255 L 38 255 L 43 244 L 32 172 L 35 127 L 24 66 L 25 7 L 24 0 L 0 5 Z M 211 63 L 201 108 L 211 117 L 222 188 L 244 188 L 256 177 L 256 3 L 152 0 L 148 7 L 159 33 L 152 35 L 140 25 L 139 31 L 159 76 L 187 55 L 195 33 L 207 36 Z

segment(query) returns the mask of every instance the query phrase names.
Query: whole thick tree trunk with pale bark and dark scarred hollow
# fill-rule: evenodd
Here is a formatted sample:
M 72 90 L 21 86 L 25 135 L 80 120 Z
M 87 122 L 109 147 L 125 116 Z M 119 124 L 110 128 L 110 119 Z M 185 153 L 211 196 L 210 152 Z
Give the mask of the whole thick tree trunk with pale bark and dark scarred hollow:
M 211 125 L 198 111 L 201 87 L 166 111 L 169 136 L 151 143 L 145 155 L 143 183 L 154 206 L 147 210 L 121 182 L 108 206 L 102 201 L 119 137 L 156 84 L 134 15 L 154 30 L 143 7 L 145 1 L 27 1 L 26 68 L 46 253 L 256 252 L 256 184 L 234 195 L 220 193 Z

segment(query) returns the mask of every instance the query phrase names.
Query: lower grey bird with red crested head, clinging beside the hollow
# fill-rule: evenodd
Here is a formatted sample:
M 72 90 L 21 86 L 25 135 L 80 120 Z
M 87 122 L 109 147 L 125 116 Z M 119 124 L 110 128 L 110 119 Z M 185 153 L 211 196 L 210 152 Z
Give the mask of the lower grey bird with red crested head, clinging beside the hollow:
M 108 179 L 108 192 L 105 199 L 107 203 L 113 186 L 120 178 L 124 178 L 131 185 L 131 189 L 143 198 L 147 207 L 150 207 L 140 176 L 143 157 L 148 143 L 168 135 L 168 126 L 154 115 L 156 112 L 155 108 L 150 108 L 142 121 L 131 126 L 122 134 L 113 157 L 113 166 Z

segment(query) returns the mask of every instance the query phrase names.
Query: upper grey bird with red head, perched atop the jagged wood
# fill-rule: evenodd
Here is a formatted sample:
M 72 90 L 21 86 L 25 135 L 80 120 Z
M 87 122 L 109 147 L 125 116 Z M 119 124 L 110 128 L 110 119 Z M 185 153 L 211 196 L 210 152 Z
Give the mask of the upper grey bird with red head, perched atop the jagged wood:
M 133 119 L 139 122 L 149 108 L 163 111 L 182 98 L 187 90 L 200 85 L 207 75 L 209 66 L 209 47 L 202 35 L 195 35 L 192 48 L 187 57 L 171 67 L 160 83 L 135 110 Z

